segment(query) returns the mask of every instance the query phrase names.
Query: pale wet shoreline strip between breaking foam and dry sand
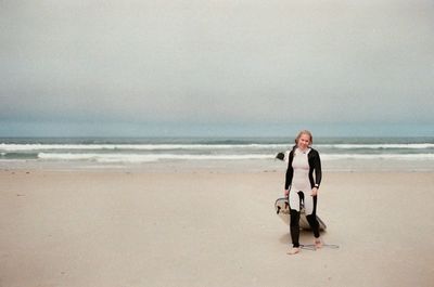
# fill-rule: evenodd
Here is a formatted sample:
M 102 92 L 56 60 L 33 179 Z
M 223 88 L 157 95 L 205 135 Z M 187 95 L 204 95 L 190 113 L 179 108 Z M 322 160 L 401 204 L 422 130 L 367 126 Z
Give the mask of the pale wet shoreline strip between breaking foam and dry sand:
M 434 160 L 322 160 L 323 172 L 431 172 Z M 285 162 L 276 159 L 267 160 L 164 160 L 154 162 L 115 162 L 101 164 L 92 161 L 33 161 L 0 160 L 0 170 L 131 170 L 143 172 L 165 171 L 219 171 L 219 172 L 280 172 L 285 171 Z

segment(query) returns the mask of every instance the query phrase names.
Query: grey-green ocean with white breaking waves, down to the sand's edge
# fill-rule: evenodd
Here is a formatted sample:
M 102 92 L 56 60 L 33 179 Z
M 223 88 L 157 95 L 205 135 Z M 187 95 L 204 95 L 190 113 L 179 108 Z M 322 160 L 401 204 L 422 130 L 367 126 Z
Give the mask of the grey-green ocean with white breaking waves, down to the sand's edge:
M 434 136 L 317 138 L 324 170 L 434 171 Z M 289 138 L 0 138 L 0 167 L 284 169 Z

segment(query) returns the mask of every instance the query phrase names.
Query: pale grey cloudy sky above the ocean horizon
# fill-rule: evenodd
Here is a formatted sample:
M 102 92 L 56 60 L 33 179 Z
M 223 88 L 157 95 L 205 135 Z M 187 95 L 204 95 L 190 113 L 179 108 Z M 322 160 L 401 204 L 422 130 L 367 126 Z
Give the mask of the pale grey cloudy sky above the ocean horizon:
M 434 135 L 433 1 L 0 2 L 0 136 Z

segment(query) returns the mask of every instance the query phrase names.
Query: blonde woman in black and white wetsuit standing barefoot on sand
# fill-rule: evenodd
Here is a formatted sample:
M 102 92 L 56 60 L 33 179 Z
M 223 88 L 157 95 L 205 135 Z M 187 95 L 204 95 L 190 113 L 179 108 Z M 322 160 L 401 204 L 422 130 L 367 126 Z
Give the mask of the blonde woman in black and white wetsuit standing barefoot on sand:
M 293 244 L 293 247 L 288 252 L 289 255 L 296 255 L 301 250 L 298 243 L 298 221 L 302 201 L 304 204 L 307 221 L 314 231 L 315 247 L 317 249 L 322 247 L 319 237 L 319 223 L 316 214 L 318 188 L 321 183 L 321 160 L 318 152 L 310 147 L 311 144 L 311 133 L 307 130 L 303 130 L 295 139 L 295 145 L 289 155 L 284 186 L 284 194 L 285 196 L 289 195 L 290 201 L 291 238 Z

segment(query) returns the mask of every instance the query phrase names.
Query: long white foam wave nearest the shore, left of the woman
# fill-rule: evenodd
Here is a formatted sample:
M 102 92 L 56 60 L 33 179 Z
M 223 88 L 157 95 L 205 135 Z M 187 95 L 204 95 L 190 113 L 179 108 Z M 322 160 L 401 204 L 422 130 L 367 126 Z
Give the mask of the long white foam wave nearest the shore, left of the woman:
M 161 159 L 197 159 L 197 160 L 240 160 L 272 159 L 273 155 L 175 155 L 175 154 L 72 154 L 39 153 L 38 158 L 47 160 L 91 160 L 97 162 L 152 162 Z

